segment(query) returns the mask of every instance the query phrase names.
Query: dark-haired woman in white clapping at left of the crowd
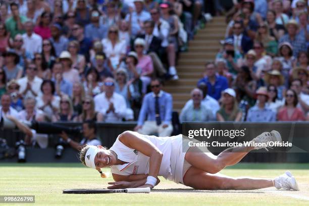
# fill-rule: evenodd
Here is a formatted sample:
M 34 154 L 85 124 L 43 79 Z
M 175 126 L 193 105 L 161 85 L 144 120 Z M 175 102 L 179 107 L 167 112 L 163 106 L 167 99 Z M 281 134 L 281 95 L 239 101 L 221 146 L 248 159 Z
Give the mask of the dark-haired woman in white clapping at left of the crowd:
M 56 114 L 60 107 L 60 97 L 54 95 L 56 91 L 55 84 L 51 80 L 43 80 L 41 84 L 42 95 L 36 97 L 36 107 L 46 114 L 46 119 Z

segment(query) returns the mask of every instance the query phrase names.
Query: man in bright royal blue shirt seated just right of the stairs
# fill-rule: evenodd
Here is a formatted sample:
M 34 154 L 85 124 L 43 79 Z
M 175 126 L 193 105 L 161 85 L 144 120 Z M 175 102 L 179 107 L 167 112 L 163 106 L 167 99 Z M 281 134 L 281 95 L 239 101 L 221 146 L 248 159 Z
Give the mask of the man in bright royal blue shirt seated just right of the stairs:
M 225 77 L 216 75 L 216 64 L 213 62 L 208 62 L 205 64 L 205 77 L 200 79 L 197 86 L 200 83 L 204 83 L 208 87 L 207 94 L 211 97 L 219 100 L 221 97 L 221 92 L 228 88 L 228 81 Z

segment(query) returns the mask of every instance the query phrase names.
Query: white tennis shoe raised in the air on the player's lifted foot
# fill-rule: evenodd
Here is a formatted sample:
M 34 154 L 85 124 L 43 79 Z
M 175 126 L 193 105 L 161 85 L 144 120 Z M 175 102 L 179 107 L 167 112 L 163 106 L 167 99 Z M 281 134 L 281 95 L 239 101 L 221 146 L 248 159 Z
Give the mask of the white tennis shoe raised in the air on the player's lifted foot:
M 267 147 L 270 147 L 270 146 L 267 146 L 267 145 L 269 145 L 269 142 L 282 142 L 282 138 L 278 131 L 273 130 L 271 132 L 263 132 L 259 136 L 252 139 L 252 141 L 254 141 L 255 143 L 262 144 L 261 146 L 255 146 L 254 149 L 265 148 L 268 151 Z

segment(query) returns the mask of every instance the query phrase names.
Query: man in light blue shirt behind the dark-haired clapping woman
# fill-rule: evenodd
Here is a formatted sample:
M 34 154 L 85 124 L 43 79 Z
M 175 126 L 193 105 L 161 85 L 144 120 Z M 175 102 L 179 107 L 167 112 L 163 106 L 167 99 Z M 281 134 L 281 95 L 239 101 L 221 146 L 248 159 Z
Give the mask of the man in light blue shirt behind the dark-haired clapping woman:
M 64 94 L 71 96 L 72 95 L 72 83 L 69 82 L 63 76 L 63 64 L 61 62 L 56 62 L 53 65 L 53 82 L 55 83 L 56 93 L 58 96 Z

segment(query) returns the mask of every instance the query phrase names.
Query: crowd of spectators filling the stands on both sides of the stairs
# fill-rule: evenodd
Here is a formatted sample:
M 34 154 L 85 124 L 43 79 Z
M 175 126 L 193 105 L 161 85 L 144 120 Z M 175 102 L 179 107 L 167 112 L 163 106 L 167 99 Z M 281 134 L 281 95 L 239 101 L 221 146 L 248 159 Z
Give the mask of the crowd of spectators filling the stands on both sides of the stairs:
M 226 15 L 226 38 L 180 121 L 309 120 L 308 1 L 0 2 L 1 117 L 137 120 L 168 136 L 161 80 L 179 79 L 177 54 L 211 13 Z

